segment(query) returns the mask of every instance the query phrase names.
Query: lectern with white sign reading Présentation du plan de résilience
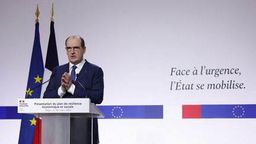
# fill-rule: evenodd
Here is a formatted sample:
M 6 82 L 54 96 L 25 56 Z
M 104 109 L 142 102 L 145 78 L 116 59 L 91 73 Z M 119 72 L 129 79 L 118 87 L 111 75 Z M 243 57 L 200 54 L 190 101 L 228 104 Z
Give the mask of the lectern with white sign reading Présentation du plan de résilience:
M 104 117 L 89 98 L 19 99 L 18 113 L 34 114 L 41 118 L 42 144 L 70 144 L 71 118 Z M 91 121 L 93 127 L 93 119 Z

